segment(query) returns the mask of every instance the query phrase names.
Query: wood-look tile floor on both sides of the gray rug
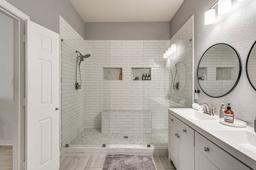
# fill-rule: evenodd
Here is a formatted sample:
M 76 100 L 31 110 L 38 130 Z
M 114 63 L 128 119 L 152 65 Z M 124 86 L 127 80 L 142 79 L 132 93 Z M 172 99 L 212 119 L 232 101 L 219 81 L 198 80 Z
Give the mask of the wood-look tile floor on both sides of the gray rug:
M 60 170 L 102 170 L 106 156 L 60 156 Z M 168 156 L 153 156 L 156 170 L 176 170 Z

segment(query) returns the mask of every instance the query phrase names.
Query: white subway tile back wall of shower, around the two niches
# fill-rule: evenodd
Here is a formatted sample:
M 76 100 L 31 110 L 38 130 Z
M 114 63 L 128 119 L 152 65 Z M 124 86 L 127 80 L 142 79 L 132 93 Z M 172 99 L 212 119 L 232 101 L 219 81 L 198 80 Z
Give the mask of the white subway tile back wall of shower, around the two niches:
M 85 40 L 85 44 L 86 53 L 92 55 L 84 63 L 88 85 L 85 127 L 101 127 L 103 109 L 148 109 L 152 111 L 152 127 L 167 128 L 169 106 L 162 98 L 166 94 L 162 53 L 170 47 L 170 40 Z M 122 68 L 122 81 L 103 80 L 103 67 Z M 132 68 L 151 68 L 151 80 L 133 81 Z

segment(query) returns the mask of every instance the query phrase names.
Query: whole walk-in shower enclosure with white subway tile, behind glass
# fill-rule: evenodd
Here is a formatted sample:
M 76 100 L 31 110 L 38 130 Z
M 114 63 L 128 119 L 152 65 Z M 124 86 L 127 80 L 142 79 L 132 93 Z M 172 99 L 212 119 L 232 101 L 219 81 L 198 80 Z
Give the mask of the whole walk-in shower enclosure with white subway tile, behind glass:
M 68 23 L 63 23 L 61 29 L 70 29 L 70 26 L 66 27 L 66 25 Z M 183 32 L 179 32 L 176 38 L 184 38 L 182 35 L 186 35 L 186 38 L 190 36 L 188 32 L 191 29 L 188 25 L 185 25 L 186 29 L 183 28 Z M 62 147 L 66 144 L 70 147 L 93 145 L 93 143 L 98 145 L 102 141 L 106 145 L 112 143 L 128 145 L 129 142 L 130 145 L 167 145 L 168 108 L 191 107 L 192 104 L 192 42 L 189 39 L 70 40 L 66 37 L 68 35 L 62 35 L 64 40 L 61 42 Z M 170 58 L 163 59 L 163 52 L 172 43 L 177 45 L 177 51 L 173 56 L 177 63 L 180 81 L 178 91 L 172 88 L 176 68 Z M 76 57 L 78 57 L 76 50 L 83 55 L 91 55 L 81 62 L 82 84 L 81 89 L 78 90 L 75 90 Z M 108 70 L 105 76 L 104 69 Z M 138 70 L 142 71 L 138 72 Z M 151 80 L 133 80 L 132 72 L 150 73 Z M 120 73 L 122 80 L 119 77 Z M 142 75 L 136 76 L 142 77 Z M 80 82 L 79 74 L 77 79 Z M 143 114 L 139 118 L 138 115 L 129 117 L 130 113 L 127 118 L 117 118 L 118 115 L 115 115 L 116 124 L 110 121 L 113 123 L 113 129 L 122 129 L 126 132 L 121 133 L 122 139 L 118 139 L 118 133 L 109 133 L 110 136 L 107 137 L 108 134 L 104 136 L 104 133 L 98 130 L 101 131 L 101 112 L 104 110 L 128 110 L 128 112 L 148 110 L 151 114 L 150 117 L 149 114 Z M 140 120 L 137 121 L 138 119 Z M 152 133 L 147 133 L 145 126 L 141 126 L 149 120 Z M 137 125 L 128 125 L 129 121 Z M 143 123 L 140 124 L 141 122 Z M 140 128 L 145 133 L 131 133 L 125 130 L 129 128 L 134 128 L 135 131 Z M 123 138 L 125 136 L 128 139 Z M 109 140 L 102 140 L 104 138 Z

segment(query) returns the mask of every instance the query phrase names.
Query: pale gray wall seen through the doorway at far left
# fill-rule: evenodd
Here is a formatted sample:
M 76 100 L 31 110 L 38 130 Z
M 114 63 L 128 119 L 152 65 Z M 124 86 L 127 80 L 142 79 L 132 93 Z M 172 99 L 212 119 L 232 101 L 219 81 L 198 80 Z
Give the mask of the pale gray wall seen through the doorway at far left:
M 12 143 L 13 19 L 0 13 L 0 145 Z

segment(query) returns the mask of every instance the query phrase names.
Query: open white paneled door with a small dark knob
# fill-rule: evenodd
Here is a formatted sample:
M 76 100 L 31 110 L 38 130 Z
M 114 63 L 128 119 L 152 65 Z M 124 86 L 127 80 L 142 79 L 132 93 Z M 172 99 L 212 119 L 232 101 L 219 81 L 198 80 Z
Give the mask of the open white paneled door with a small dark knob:
M 26 21 L 27 170 L 60 166 L 59 34 Z

